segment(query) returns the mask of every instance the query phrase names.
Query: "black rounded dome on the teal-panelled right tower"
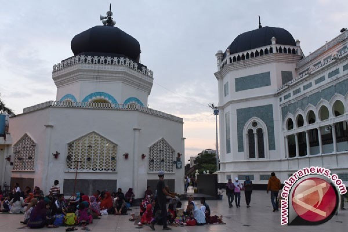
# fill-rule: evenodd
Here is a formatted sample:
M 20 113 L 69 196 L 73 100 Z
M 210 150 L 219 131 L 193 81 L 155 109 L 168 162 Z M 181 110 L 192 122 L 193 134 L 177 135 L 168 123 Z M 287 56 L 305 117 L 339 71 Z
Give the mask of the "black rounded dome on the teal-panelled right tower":
M 296 46 L 294 38 L 287 30 L 280 27 L 265 26 L 238 35 L 228 49 L 230 49 L 230 54 L 235 54 L 241 51 L 271 45 L 272 37 L 276 38 L 277 44 Z M 223 57 L 225 56 L 226 52 Z

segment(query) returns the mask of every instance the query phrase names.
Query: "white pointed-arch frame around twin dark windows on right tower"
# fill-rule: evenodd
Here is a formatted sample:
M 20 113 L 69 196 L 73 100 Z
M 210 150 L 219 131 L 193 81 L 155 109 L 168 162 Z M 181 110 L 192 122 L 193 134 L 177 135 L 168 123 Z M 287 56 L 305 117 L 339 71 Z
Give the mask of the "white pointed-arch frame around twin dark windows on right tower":
M 256 122 L 257 125 L 254 126 L 253 123 Z M 269 146 L 268 146 L 268 129 L 266 123 L 264 123 L 260 118 L 258 117 L 252 117 L 249 119 L 243 128 L 243 136 L 245 139 L 243 139 L 243 145 L 244 145 L 244 159 L 248 160 L 249 158 L 249 139 L 248 139 L 248 131 L 250 129 L 253 130 L 253 133 L 256 134 L 257 130 L 261 128 L 263 132 L 263 147 L 264 147 L 264 159 L 269 159 Z M 254 141 L 255 142 L 255 141 Z M 256 144 L 256 143 L 255 143 Z M 258 147 L 254 147 L 255 149 L 255 158 L 258 159 Z M 263 158 L 261 158 L 263 159 Z

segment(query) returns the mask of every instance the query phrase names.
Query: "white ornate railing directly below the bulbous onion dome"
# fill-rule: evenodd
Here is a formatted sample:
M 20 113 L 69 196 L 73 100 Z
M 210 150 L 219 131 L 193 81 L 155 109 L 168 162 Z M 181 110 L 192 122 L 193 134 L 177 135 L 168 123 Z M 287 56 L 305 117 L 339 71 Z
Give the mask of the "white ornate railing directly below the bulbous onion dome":
M 127 57 L 112 57 L 112 56 L 89 56 L 89 55 L 76 55 L 65 59 L 61 63 L 53 65 L 52 73 L 61 71 L 67 67 L 75 64 L 98 64 L 98 65 L 121 65 L 129 67 L 137 72 L 140 72 L 148 77 L 153 78 L 153 72 L 137 62 L 132 61 Z

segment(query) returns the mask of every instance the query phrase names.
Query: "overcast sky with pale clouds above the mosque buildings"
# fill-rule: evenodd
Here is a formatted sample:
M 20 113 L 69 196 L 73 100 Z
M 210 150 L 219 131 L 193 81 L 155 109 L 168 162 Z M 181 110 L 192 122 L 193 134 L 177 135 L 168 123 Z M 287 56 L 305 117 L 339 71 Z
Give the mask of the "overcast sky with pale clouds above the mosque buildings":
M 140 42 L 154 72 L 149 106 L 184 119 L 186 160 L 215 147 L 215 53 L 240 33 L 282 27 L 304 54 L 348 27 L 348 1 L 0 1 L 0 94 L 16 114 L 55 100 L 52 66 L 73 55 L 74 35 L 102 25 L 112 3 L 116 26 Z M 169 91 L 170 90 L 170 91 Z M 16 141 L 14 141 L 16 142 Z

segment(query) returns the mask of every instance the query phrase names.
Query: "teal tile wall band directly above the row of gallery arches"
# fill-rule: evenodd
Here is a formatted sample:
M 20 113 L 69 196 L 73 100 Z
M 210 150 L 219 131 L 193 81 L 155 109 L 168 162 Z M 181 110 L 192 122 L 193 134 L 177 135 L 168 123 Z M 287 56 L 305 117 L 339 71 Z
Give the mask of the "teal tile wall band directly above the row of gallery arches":
M 335 93 L 341 94 L 343 96 L 345 96 L 348 93 L 348 79 L 343 80 L 335 85 L 329 86 L 323 89 L 322 91 L 311 94 L 308 97 L 303 97 L 297 102 L 283 106 L 282 107 L 283 120 L 285 119 L 285 115 L 288 112 L 294 114 L 298 108 L 304 111 L 304 109 L 306 109 L 308 104 L 312 104 L 316 106 L 322 98 L 327 101 L 330 101 L 330 99 Z

